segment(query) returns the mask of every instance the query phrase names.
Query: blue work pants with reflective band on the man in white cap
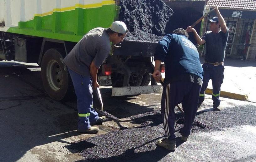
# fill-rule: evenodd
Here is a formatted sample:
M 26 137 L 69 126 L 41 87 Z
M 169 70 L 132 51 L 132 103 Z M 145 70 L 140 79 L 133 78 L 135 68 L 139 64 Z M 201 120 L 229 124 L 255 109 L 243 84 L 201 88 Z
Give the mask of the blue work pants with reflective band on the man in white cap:
M 98 113 L 93 109 L 93 89 L 91 77 L 82 76 L 71 69 L 68 69 L 68 71 L 77 96 L 77 129 L 86 130 L 90 128 L 90 122 L 94 123 L 99 119 Z

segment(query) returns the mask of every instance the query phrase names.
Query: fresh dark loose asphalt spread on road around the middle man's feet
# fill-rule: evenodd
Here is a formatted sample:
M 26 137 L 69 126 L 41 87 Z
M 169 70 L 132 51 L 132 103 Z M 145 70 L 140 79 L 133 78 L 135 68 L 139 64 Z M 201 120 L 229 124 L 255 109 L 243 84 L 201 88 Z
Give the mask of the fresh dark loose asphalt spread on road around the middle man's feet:
M 256 106 L 246 105 L 226 108 L 222 111 L 199 111 L 196 119 L 205 123 L 205 129 L 193 125 L 191 134 L 212 132 L 239 125 L 256 125 Z M 182 117 L 176 114 L 176 120 Z M 140 124 L 137 128 L 114 130 L 108 134 L 91 137 L 85 140 L 81 154 L 89 161 L 169 161 L 165 156 L 168 150 L 156 146 L 158 139 L 163 138 L 164 129 L 160 110 L 154 110 L 130 117 L 131 123 Z M 182 144 L 179 130 L 183 125 L 176 125 L 176 146 Z M 75 145 L 72 144 L 72 145 Z M 92 147 L 94 146 L 94 147 Z M 73 148 L 75 149 L 75 148 Z M 79 149 L 81 150 L 81 149 Z M 150 155 L 150 156 L 149 156 Z

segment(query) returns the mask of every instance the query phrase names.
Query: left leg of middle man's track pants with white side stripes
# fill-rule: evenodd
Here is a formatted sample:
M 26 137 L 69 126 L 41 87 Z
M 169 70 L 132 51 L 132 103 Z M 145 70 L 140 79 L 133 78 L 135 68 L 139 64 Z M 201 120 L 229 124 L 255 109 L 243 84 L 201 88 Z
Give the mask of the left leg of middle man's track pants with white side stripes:
M 179 104 L 183 97 L 183 92 L 179 91 L 181 84 L 179 82 L 169 83 L 163 89 L 161 101 L 161 113 L 163 120 L 163 128 L 166 138 L 176 139 L 174 135 L 175 112 L 174 108 Z

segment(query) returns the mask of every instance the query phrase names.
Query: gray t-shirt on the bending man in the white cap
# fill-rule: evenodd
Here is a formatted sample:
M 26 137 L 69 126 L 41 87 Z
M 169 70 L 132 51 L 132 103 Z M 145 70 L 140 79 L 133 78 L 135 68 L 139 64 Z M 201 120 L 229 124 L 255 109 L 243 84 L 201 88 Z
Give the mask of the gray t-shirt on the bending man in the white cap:
M 93 61 L 99 68 L 111 50 L 109 34 L 102 27 L 89 31 L 64 58 L 69 69 L 82 76 L 91 76 L 90 64 Z

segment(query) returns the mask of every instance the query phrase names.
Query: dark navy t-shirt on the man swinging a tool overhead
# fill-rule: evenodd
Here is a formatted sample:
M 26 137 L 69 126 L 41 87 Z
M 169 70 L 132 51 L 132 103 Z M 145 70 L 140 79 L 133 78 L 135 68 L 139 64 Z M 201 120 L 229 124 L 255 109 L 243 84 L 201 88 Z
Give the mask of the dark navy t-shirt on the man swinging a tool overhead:
M 228 35 L 228 28 L 226 33 L 222 31 L 218 33 L 213 33 L 211 31 L 205 32 L 202 37 L 206 42 L 205 61 L 212 63 L 224 61 Z

